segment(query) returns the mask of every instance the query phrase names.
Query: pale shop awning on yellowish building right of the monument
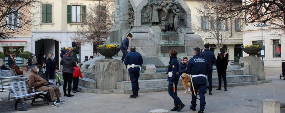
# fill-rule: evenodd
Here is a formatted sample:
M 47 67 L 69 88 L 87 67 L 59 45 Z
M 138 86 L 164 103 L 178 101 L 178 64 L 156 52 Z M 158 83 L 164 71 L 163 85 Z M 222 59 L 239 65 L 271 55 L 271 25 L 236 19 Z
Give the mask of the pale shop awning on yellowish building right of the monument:
M 209 43 L 209 44 L 218 44 L 217 39 L 214 39 L 214 38 L 205 38 L 204 41 L 205 43 Z M 224 41 L 224 39 L 222 39 L 222 41 Z M 223 45 L 225 44 L 228 44 L 228 45 L 242 44 L 242 39 L 226 39 Z

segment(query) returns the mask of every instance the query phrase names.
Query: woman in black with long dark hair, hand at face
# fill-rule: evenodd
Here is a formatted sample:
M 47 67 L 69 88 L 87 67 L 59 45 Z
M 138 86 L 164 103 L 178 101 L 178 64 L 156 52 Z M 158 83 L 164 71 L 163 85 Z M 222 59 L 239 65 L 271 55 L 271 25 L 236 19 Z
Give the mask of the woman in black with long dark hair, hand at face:
M 227 91 L 226 72 L 228 67 L 228 53 L 223 48 L 220 48 L 219 50 L 219 54 L 216 61 L 216 67 L 219 78 L 219 87 L 217 90 L 221 90 L 222 77 L 223 77 L 225 91 Z

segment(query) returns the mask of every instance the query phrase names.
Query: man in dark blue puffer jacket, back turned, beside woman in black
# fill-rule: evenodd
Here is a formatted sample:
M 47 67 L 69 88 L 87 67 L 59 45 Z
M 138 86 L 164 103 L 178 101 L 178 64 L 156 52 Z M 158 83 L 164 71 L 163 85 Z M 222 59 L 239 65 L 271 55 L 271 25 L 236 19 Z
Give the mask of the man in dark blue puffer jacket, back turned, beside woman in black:
M 213 74 L 213 65 L 216 63 L 216 57 L 213 52 L 210 51 L 210 45 L 209 44 L 204 44 L 205 51 L 201 53 L 201 57 L 206 59 L 208 61 L 209 65 L 209 72 L 207 73 L 208 75 L 208 82 L 209 82 L 209 95 L 212 95 L 212 74 Z

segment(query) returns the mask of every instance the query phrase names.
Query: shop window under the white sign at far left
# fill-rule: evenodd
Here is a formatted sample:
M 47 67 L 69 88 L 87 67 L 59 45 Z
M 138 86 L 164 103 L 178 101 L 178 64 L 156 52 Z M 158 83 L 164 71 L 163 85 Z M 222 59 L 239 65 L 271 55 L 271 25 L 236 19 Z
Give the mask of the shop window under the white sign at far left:
M 24 47 L 3 47 L 3 52 L 5 55 L 4 61 L 7 64 L 6 66 L 8 66 L 8 57 L 10 54 L 12 54 L 13 58 L 15 57 L 15 63 L 17 63 L 17 65 L 21 67 L 21 64 L 23 64 L 23 58 L 20 57 L 20 53 L 24 52 Z

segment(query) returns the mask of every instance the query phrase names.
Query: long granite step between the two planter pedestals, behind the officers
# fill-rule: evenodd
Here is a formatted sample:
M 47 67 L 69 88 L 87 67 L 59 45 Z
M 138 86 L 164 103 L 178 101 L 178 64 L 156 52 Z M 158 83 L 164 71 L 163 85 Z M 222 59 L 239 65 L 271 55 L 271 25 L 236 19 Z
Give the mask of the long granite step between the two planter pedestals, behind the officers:
M 258 81 L 257 75 L 228 75 L 226 78 L 228 84 Z M 212 77 L 212 84 L 218 84 L 218 76 Z M 179 81 L 178 86 L 182 86 L 181 81 Z M 168 87 L 168 81 L 167 79 L 139 80 L 139 87 L 141 89 Z M 117 82 L 116 89 L 132 89 L 131 81 Z

